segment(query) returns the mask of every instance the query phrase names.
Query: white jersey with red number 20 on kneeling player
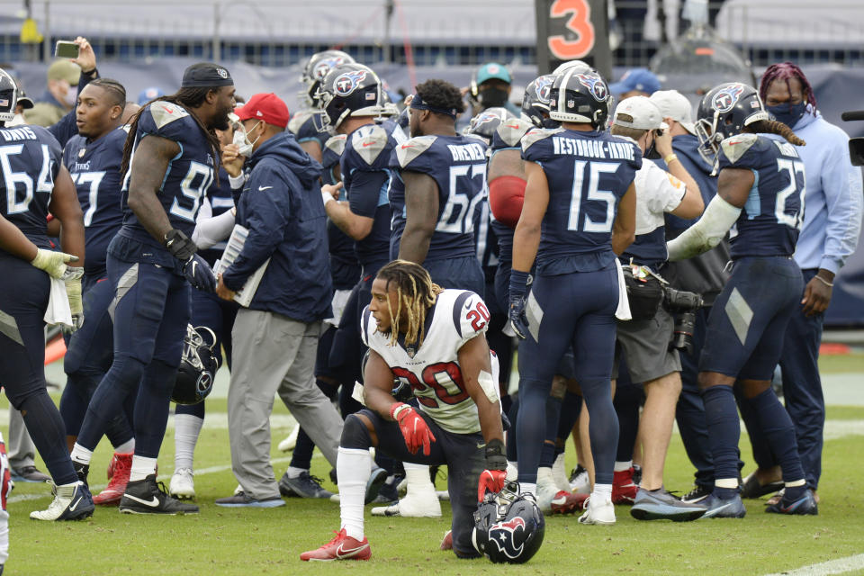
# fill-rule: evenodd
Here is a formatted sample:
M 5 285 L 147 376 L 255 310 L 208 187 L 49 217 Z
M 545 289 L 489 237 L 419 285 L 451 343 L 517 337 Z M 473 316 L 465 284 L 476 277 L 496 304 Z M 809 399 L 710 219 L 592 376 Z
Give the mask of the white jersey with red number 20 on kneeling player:
M 465 391 L 459 348 L 486 332 L 489 311 L 477 294 L 468 290 L 445 290 L 426 315 L 426 338 L 420 347 L 405 346 L 402 336 L 391 346 L 390 335 L 378 331 L 367 306 L 363 311 L 361 334 L 390 366 L 393 375 L 408 383 L 426 412 L 438 426 L 455 434 L 480 431 L 477 405 Z M 498 359 L 491 354 L 492 380 L 498 383 Z

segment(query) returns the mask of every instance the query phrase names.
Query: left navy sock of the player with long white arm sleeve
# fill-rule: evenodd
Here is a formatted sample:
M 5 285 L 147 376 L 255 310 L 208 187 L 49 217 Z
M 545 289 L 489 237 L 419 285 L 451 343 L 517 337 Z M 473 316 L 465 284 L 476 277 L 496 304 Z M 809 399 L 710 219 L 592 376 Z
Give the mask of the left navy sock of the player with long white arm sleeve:
M 738 409 L 735 406 L 735 396 L 732 386 L 711 386 L 702 392 L 705 402 L 705 420 L 708 429 L 708 439 L 711 455 L 714 457 L 715 479 L 738 477 L 738 440 L 741 438 L 741 425 L 738 421 Z M 732 491 L 729 495 L 727 491 Z M 730 498 L 734 489 L 715 488 L 715 494 L 724 498 L 721 492 Z

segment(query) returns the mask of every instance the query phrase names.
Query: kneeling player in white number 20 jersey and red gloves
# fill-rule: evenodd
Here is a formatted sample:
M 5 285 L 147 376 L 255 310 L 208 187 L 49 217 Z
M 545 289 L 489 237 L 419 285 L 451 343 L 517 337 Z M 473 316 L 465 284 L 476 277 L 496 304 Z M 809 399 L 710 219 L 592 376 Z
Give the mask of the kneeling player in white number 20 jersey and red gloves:
M 488 322 L 480 296 L 442 289 L 422 266 L 394 260 L 378 272 L 360 327 L 369 347 L 367 408 L 347 417 L 339 442 L 341 529 L 301 560 L 372 556 L 363 507 L 373 446 L 405 462 L 446 464 L 453 550 L 460 558 L 480 555 L 471 538 L 476 499 L 504 487 L 507 465 Z M 410 384 L 417 407 L 392 397 L 396 379 Z

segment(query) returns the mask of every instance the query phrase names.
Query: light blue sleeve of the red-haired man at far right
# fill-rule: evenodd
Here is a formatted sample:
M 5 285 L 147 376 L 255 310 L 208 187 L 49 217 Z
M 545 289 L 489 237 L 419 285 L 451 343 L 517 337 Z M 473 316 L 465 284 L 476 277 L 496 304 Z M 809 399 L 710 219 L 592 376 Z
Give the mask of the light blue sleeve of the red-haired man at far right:
M 837 274 L 846 258 L 858 247 L 864 197 L 861 194 L 861 169 L 851 165 L 846 139 L 837 138 L 835 142 L 833 151 L 825 155 L 820 174 L 828 221 L 819 267 Z

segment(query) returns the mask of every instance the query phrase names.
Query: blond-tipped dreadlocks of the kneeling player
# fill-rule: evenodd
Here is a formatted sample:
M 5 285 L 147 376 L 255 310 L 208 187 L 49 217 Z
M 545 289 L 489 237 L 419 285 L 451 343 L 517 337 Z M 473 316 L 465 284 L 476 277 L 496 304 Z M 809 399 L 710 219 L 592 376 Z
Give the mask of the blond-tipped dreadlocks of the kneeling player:
M 393 260 L 378 271 L 377 277 L 387 281 L 388 292 L 390 292 L 391 285 L 396 288 L 395 311 L 390 299 L 387 299 L 387 309 L 390 311 L 391 320 L 390 345 L 395 346 L 399 338 L 399 320 L 404 309 L 408 316 L 405 344 L 417 343 L 417 346 L 420 347 L 423 344 L 423 338 L 426 337 L 426 334 L 423 333 L 426 312 L 435 304 L 437 295 L 444 292 L 444 288 L 432 282 L 426 268 L 408 260 Z

